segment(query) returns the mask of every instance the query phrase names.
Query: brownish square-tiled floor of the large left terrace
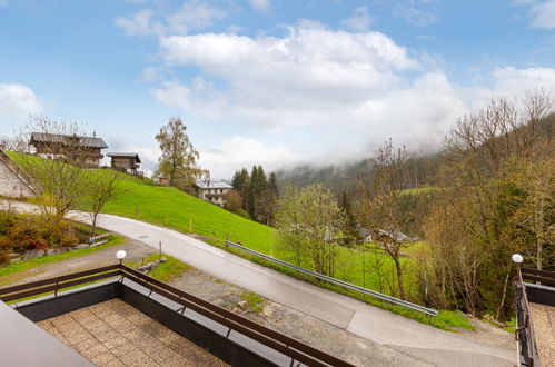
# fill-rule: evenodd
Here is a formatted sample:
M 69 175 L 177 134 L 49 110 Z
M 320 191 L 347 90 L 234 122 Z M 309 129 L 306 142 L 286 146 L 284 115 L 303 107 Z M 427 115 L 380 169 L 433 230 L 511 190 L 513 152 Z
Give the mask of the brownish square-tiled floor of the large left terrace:
M 97 366 L 227 366 L 121 299 L 37 325 Z

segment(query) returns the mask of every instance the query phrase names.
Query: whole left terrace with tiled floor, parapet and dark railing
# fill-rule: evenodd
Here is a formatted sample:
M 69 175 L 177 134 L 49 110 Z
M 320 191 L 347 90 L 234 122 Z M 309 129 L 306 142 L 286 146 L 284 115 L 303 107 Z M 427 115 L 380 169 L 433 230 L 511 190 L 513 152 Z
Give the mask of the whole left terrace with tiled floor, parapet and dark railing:
M 12 302 L 0 302 L 12 320 L 0 325 L 3 358 L 18 365 L 350 366 L 122 264 L 3 288 L 0 300 Z

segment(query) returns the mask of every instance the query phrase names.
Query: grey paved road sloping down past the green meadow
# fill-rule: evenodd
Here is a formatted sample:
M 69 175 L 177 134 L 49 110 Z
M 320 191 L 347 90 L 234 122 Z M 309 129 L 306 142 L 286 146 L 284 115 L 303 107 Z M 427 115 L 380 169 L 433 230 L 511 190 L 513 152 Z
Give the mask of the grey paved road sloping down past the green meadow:
M 30 210 L 24 204 L 21 209 Z M 88 221 L 89 216 L 71 216 Z M 479 344 L 250 262 L 175 230 L 100 215 L 99 227 L 140 240 L 220 279 L 437 366 L 512 366 L 516 349 Z M 516 348 L 516 345 L 515 345 Z

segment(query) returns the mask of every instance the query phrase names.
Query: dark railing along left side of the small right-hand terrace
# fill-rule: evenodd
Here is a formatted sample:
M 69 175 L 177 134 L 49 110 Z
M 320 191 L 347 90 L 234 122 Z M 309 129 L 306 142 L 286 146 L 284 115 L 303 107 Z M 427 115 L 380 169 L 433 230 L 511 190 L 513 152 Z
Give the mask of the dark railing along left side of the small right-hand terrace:
M 515 306 L 516 306 L 516 330 L 515 338 L 518 340 L 518 354 L 521 366 L 539 366 L 536 338 L 528 308 L 528 297 L 526 295 L 526 285 L 523 278 L 528 279 L 529 271 L 534 269 L 518 268 L 514 281 L 515 286 Z M 541 271 L 541 270 L 535 270 Z

